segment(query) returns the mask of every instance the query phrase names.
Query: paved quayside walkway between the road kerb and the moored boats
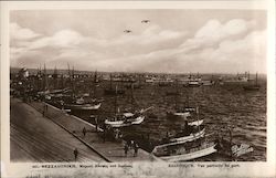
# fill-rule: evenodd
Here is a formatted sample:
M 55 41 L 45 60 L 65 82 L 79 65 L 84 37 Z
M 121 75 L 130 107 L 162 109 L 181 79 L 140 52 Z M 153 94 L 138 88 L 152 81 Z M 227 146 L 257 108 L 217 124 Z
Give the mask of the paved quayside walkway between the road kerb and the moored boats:
M 43 113 L 45 104 L 41 102 L 32 102 L 31 106 Z M 91 123 L 87 123 L 76 116 L 68 115 L 52 105 L 47 105 L 45 117 L 52 119 L 54 123 L 73 134 L 76 138 L 97 151 L 102 158 L 107 161 L 156 161 L 159 160 L 153 155 L 139 149 L 138 156 L 134 157 L 134 150 L 128 151 L 125 156 L 124 144 L 121 142 L 104 142 L 103 130 L 96 132 L 96 128 Z M 83 135 L 83 128 L 86 128 L 86 135 Z

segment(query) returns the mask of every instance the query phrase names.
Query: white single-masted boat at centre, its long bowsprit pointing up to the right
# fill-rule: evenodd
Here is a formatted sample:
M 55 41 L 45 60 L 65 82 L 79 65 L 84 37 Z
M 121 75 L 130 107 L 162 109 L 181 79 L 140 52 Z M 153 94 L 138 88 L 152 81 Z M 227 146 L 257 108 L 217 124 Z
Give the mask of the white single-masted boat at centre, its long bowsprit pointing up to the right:
M 117 86 L 116 86 L 116 91 L 117 91 Z M 115 116 L 113 118 L 107 118 L 105 121 L 105 124 L 110 126 L 110 127 L 126 127 L 126 126 L 130 126 L 130 125 L 139 125 L 145 119 L 144 113 L 150 108 L 151 107 L 146 108 L 146 109 L 136 111 L 132 113 L 130 113 L 130 112 L 120 113 L 119 108 L 117 107 L 117 94 L 116 94 L 116 96 L 115 96 Z

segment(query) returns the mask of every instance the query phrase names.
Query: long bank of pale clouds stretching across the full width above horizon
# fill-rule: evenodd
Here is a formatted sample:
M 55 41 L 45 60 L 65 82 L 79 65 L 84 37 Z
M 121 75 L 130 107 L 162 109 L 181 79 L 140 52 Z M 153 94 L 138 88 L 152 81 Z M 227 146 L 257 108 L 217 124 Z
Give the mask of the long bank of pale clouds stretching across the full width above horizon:
M 84 35 L 74 29 L 42 35 L 30 29 L 29 38 L 13 38 L 11 64 L 38 67 L 142 72 L 265 72 L 266 31 L 256 31 L 255 21 L 209 20 L 191 32 L 149 24 L 141 31 L 104 39 Z M 19 31 L 22 28 L 14 28 Z M 19 34 L 22 32 L 14 32 Z M 31 35 L 32 33 L 32 35 Z M 32 38 L 31 38 L 32 36 Z M 191 36 L 191 35 L 190 35 Z

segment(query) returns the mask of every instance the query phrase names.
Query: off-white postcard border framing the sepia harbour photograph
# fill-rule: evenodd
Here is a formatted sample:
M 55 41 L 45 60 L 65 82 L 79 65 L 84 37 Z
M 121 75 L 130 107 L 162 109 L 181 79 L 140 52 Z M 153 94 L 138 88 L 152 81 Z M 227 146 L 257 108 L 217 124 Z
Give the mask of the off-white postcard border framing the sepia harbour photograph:
M 34 164 L 10 163 L 9 127 L 9 12 L 10 10 L 81 10 L 81 9 L 263 9 L 267 10 L 267 160 L 264 163 L 238 163 L 240 168 L 168 168 L 168 164 L 136 163 L 134 169 L 49 169 L 34 170 Z M 275 2 L 274 0 L 248 1 L 1 1 L 1 168 L 3 176 L 77 175 L 105 177 L 275 177 Z M 193 163 L 198 164 L 198 163 Z M 212 163 L 204 163 L 212 164 Z M 217 163 L 219 164 L 219 163 Z M 138 169 L 140 168 L 140 169 Z M 203 176 L 204 175 L 204 176 Z M 135 177 L 136 177 L 135 176 Z

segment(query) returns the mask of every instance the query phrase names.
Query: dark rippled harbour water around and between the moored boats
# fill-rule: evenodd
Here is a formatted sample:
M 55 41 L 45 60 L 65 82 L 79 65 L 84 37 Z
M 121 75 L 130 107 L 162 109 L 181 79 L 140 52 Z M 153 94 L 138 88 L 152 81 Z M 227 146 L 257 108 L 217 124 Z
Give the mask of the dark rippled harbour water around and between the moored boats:
M 206 134 L 219 134 L 229 138 L 227 128 L 232 129 L 233 144 L 247 144 L 253 153 L 241 156 L 237 160 L 265 161 L 266 160 L 266 81 L 259 81 L 261 90 L 248 92 L 243 90 L 243 84 L 225 84 L 200 87 L 179 86 L 179 105 L 199 107 L 199 117 L 204 119 Z M 99 124 L 114 113 L 115 96 L 105 96 L 100 84 L 99 97 L 104 103 L 97 113 Z M 153 106 L 146 114 L 142 124 L 124 128 L 124 135 L 130 137 L 150 137 L 150 142 L 158 143 L 167 132 L 173 134 L 180 130 L 183 121 L 168 119 L 166 112 L 173 109 L 174 97 L 167 96 L 166 92 L 174 91 L 173 86 L 159 86 L 147 84 L 134 92 L 136 109 Z M 117 96 L 120 111 L 130 108 L 130 90 L 125 95 Z M 89 114 L 76 113 L 77 116 L 94 123 Z M 152 116 L 155 115 L 155 116 Z M 213 154 L 200 160 L 226 160 L 225 157 Z

